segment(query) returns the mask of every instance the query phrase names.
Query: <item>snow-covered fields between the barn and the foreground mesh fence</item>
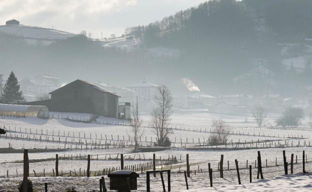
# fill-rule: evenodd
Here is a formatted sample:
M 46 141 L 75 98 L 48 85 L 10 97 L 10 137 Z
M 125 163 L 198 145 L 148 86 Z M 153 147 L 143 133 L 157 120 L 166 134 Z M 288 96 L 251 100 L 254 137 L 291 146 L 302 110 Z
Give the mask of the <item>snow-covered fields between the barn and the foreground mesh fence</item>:
M 267 160 L 268 164 L 275 164 L 275 158 L 277 158 L 277 164 L 282 165 L 282 150 L 286 151 L 287 161 L 290 161 L 290 154 L 293 153 L 294 157 L 297 156 L 298 162 L 302 160 L 302 150 L 307 154 L 308 161 L 310 160 L 310 154 L 312 154 L 312 148 L 310 146 L 312 131 L 309 130 L 308 126 L 302 127 L 299 130 L 283 130 L 274 129 L 274 119 L 267 119 L 264 124 L 265 128 L 255 128 L 255 123 L 251 118 L 247 121 L 243 117 L 233 116 L 222 116 L 222 119 L 230 126 L 230 132 L 233 134 L 229 135 L 228 140 L 232 140 L 233 143 L 240 142 L 239 149 L 228 145 L 228 149 L 217 149 L 215 147 L 205 147 L 197 150 L 188 149 L 206 142 L 211 133 L 210 125 L 213 119 L 220 117 L 211 115 L 208 113 L 179 113 L 172 116 L 171 127 L 174 133 L 170 136 L 174 144 L 174 148 L 159 152 L 146 152 L 146 153 L 133 153 L 130 141 L 127 141 L 130 135 L 130 127 L 115 119 L 106 119 L 99 117 L 101 123 L 83 123 L 75 122 L 74 120 L 80 120 L 85 118 L 91 118 L 90 114 L 61 114 L 51 113 L 53 118 L 50 119 L 38 119 L 35 117 L 17 118 L 17 119 L 0 119 L 0 126 L 5 126 L 6 129 L 10 130 L 7 136 L 11 136 L 10 139 L 5 139 L 1 136 L 0 148 L 6 148 L 8 145 L 15 149 L 64 149 L 65 151 L 59 151 L 57 154 L 66 159 L 59 160 L 59 170 L 64 173 L 70 171 L 77 172 L 79 169 L 85 170 L 87 161 L 85 159 L 75 159 L 76 157 L 84 157 L 91 155 L 91 171 L 100 171 L 103 169 L 109 169 L 112 167 L 119 167 L 120 160 L 115 159 L 118 154 L 124 154 L 125 161 L 124 166 L 131 166 L 134 164 L 141 164 L 150 162 L 152 154 L 156 154 L 156 159 L 167 159 L 168 156 L 176 157 L 178 160 L 177 164 L 172 165 L 171 169 L 173 172 L 178 170 L 185 170 L 186 154 L 189 154 L 189 162 L 191 170 L 207 170 L 208 163 L 211 163 L 213 168 L 217 168 L 220 155 L 224 155 L 224 162 L 227 164 L 229 161 L 229 167 L 234 166 L 234 160 L 237 159 L 239 166 L 245 167 L 248 161 L 248 165 L 254 166 L 254 160 L 257 157 L 257 151 L 261 152 L 262 162 Z M 56 117 L 58 115 L 58 118 Z M 61 119 L 61 116 L 68 116 L 68 119 Z M 148 115 L 142 116 L 144 120 L 144 134 L 141 137 L 141 143 L 144 144 L 150 141 L 155 141 L 155 136 L 148 127 Z M 99 121 L 96 119 L 96 121 Z M 111 124 L 106 124 L 105 121 L 110 121 Z M 108 122 L 107 122 L 108 123 Z M 21 133 L 20 133 L 21 132 Z M 47 135 L 46 135 L 47 134 Z M 259 136 L 260 135 L 260 136 Z M 264 135 L 264 136 L 263 136 Z M 289 139 L 287 137 L 304 137 L 305 139 Z M 18 137 L 19 139 L 14 139 Z M 39 138 L 41 137 L 41 142 Z M 24 138 L 24 139 L 20 139 Z M 28 140 L 30 138 L 32 140 Z M 35 140 L 34 140 L 35 138 Z M 53 141 L 52 142 L 52 138 Z M 187 139 L 186 139 L 187 138 Z M 48 139 L 48 142 L 47 142 Z M 284 144 L 292 148 L 254 148 L 257 140 L 264 141 L 267 145 L 269 143 L 274 146 L 278 144 Z M 87 142 L 87 149 L 85 148 L 85 141 Z M 123 142 L 127 143 L 124 148 L 119 148 L 117 145 L 113 147 L 113 143 Z M 182 141 L 182 147 L 180 142 Z M 251 144 L 243 145 L 244 142 L 252 142 Z M 270 142 L 272 141 L 272 142 Z M 77 142 L 81 142 L 81 145 L 77 146 Z M 108 149 L 101 149 L 94 145 L 104 144 L 105 142 L 110 143 Z M 187 142 L 187 145 L 185 144 Z M 298 145 L 296 147 L 296 145 Z M 242 145 L 244 147 L 242 147 Z M 267 147 L 266 145 L 266 147 Z M 83 146 L 83 147 L 82 147 Z M 91 146 L 92 149 L 91 149 Z M 184 146 L 187 148 L 184 149 Z M 234 144 L 235 146 L 235 144 Z M 252 147 L 246 149 L 245 147 Z M 76 149 L 77 147 L 77 149 Z M 82 149 L 81 149 L 82 147 Z M 219 146 L 222 147 L 222 146 Z M 223 146 L 224 147 L 224 146 Z M 46 175 L 52 174 L 52 169 L 55 167 L 56 152 L 46 153 L 29 153 L 29 160 L 33 162 L 29 165 L 29 170 L 32 174 L 34 170 L 37 175 L 41 175 L 43 170 Z M 73 160 L 69 160 L 73 158 Z M 110 158 L 109 158 L 110 157 Z M 0 177 L 6 177 L 7 170 L 9 177 L 20 177 L 22 174 L 22 154 L 1 154 L 0 155 Z M 35 161 L 34 161 L 35 160 Z M 263 163 L 262 163 L 263 164 Z M 168 169 L 164 167 L 163 169 Z M 309 168 L 310 169 L 310 168 Z M 312 168 L 311 168 L 312 170 Z

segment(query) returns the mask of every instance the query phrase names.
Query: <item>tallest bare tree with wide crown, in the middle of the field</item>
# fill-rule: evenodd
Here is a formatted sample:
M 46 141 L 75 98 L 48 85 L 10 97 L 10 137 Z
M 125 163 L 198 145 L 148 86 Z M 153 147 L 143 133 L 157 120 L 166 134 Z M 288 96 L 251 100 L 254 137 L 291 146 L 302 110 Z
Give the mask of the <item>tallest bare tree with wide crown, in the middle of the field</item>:
M 171 120 L 172 115 L 172 95 L 168 87 L 165 85 L 160 85 L 157 88 L 157 93 L 154 97 L 154 102 L 156 106 L 150 115 L 150 125 L 152 131 L 157 137 L 158 145 L 169 146 L 170 141 L 168 136 L 173 133 L 173 131 L 168 128 L 168 124 Z

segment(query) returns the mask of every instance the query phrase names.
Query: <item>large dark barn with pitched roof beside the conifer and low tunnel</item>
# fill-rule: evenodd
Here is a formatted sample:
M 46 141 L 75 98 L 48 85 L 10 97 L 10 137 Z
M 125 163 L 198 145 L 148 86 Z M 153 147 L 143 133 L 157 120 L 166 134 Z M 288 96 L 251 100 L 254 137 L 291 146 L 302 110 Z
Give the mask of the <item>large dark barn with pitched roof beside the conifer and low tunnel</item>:
M 91 113 L 118 118 L 119 96 L 87 81 L 77 79 L 49 94 L 50 111 Z

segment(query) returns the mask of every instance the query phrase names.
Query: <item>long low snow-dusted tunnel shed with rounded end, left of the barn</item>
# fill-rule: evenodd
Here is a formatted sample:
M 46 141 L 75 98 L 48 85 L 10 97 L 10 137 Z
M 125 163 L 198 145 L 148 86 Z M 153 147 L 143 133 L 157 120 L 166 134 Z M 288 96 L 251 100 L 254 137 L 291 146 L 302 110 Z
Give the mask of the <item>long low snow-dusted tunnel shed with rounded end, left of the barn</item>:
M 46 106 L 0 104 L 0 115 L 34 116 L 45 119 L 49 117 L 49 111 Z

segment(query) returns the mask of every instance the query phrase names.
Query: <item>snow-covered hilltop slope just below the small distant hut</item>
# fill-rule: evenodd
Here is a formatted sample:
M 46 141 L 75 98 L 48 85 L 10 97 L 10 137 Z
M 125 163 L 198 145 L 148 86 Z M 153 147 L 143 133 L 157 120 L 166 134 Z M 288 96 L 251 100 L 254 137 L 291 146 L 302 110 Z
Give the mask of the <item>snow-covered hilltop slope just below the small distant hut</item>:
M 42 39 L 42 40 L 66 39 L 68 37 L 75 36 L 75 34 L 73 33 L 61 30 L 37 26 L 27 26 L 22 24 L 0 25 L 0 32 L 23 38 Z

